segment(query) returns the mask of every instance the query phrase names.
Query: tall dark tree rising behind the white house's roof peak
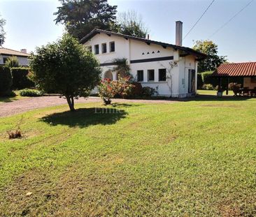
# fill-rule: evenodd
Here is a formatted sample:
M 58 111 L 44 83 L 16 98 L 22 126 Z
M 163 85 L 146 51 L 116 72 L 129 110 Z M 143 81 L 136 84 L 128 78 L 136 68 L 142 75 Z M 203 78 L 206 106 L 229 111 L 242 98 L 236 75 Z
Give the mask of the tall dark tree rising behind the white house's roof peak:
M 110 6 L 107 0 L 59 0 L 55 19 L 66 30 L 80 40 L 94 28 L 111 30 L 115 23 L 117 6 Z

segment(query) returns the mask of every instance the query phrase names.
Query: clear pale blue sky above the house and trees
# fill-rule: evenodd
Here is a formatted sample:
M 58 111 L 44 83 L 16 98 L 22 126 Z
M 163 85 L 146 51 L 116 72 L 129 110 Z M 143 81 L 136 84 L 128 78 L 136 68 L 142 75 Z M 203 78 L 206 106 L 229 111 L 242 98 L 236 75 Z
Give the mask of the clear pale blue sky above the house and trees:
M 183 35 L 201 16 L 212 0 L 109 0 L 118 12 L 135 10 L 150 30 L 150 39 L 175 43 L 175 21 L 183 22 Z M 229 61 L 256 61 L 256 0 L 229 22 L 215 36 L 213 32 L 241 10 L 250 0 L 215 0 L 183 45 L 192 47 L 194 40 L 211 39 L 219 54 Z M 6 43 L 3 47 L 33 51 L 62 36 L 64 27 L 55 25 L 53 13 L 57 0 L 0 0 L 0 14 L 6 19 Z

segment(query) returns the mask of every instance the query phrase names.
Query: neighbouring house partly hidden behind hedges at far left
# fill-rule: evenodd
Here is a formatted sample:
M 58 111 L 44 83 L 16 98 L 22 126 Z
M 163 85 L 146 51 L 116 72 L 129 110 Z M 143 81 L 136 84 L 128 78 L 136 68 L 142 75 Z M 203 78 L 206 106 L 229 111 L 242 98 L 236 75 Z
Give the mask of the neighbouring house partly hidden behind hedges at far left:
M 22 49 L 21 51 L 11 50 L 8 48 L 0 47 L 0 65 L 4 65 L 8 57 L 17 57 L 17 61 L 19 61 L 20 66 L 28 66 L 29 65 L 29 54 L 27 54 L 26 49 Z

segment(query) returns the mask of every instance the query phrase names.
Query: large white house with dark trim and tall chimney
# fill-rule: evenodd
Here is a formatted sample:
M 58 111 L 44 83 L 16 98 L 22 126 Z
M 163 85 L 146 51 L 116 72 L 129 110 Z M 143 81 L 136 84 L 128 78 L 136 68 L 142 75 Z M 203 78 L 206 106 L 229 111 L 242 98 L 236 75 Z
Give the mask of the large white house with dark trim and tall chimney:
M 197 91 L 197 62 L 205 54 L 182 47 L 182 22 L 176 22 L 176 45 L 94 29 L 80 42 L 96 55 L 102 77 L 116 80 L 115 59 L 127 59 L 131 75 L 159 95 L 183 98 Z

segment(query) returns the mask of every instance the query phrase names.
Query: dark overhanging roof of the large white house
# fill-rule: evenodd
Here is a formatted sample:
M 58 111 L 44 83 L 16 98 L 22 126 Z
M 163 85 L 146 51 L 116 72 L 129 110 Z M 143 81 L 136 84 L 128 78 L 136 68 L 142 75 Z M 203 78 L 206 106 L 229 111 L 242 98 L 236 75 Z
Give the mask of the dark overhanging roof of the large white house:
M 90 40 L 90 38 L 94 37 L 98 33 L 106 33 L 109 36 L 113 35 L 113 36 L 120 36 L 120 37 L 127 38 L 127 39 L 130 38 L 130 39 L 134 39 L 134 40 L 140 40 L 140 41 L 143 41 L 143 42 L 148 43 L 148 44 L 152 43 L 152 44 L 155 44 L 155 45 L 161 45 L 163 47 L 172 47 L 173 49 L 176 49 L 176 50 L 182 50 L 184 52 L 184 55 L 185 54 L 192 54 L 194 56 L 197 56 L 199 59 L 205 59 L 207 57 L 206 54 L 203 54 L 201 52 L 193 50 L 190 47 L 183 47 L 183 46 L 172 45 L 172 44 L 169 44 L 169 43 L 162 43 L 162 42 L 159 42 L 159 41 L 156 41 L 156 40 L 148 40 L 148 39 L 145 39 L 145 38 L 138 38 L 138 37 L 135 37 L 135 36 L 128 36 L 128 35 L 124 35 L 122 33 L 115 33 L 115 32 L 112 32 L 112 31 L 106 31 L 106 30 L 102 30 L 102 29 L 92 30 L 90 33 L 87 34 L 87 36 L 83 37 L 80 40 L 80 43 L 87 42 L 87 40 Z

